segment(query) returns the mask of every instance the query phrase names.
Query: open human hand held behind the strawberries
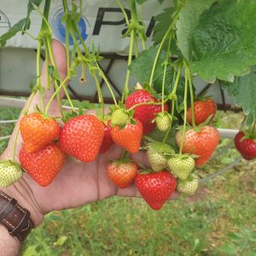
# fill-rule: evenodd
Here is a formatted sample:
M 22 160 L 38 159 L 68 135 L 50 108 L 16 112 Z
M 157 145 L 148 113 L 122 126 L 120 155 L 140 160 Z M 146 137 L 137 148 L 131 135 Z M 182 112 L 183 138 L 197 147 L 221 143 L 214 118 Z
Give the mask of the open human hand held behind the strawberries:
M 52 48 L 55 55 L 56 67 L 61 79 L 67 75 L 66 51 L 58 41 L 52 42 Z M 46 84 L 46 67 L 44 65 L 41 77 L 41 83 Z M 49 102 L 53 90 L 45 90 L 44 103 Z M 61 93 L 63 96 L 63 92 Z M 32 99 L 29 112 L 34 107 L 40 105 L 40 96 L 36 95 Z M 26 108 L 26 107 L 25 107 Z M 91 113 L 91 111 L 88 111 Z M 61 116 L 57 102 L 51 104 L 49 114 L 52 116 Z M 9 140 L 9 146 L 1 156 L 1 159 L 11 159 L 14 150 L 15 134 L 19 129 L 20 119 L 15 125 L 15 130 Z M 19 162 L 19 151 L 22 146 L 22 139 L 19 135 L 16 146 L 16 160 Z M 32 220 L 35 225 L 40 224 L 44 219 L 44 214 L 54 210 L 79 207 L 92 201 L 102 200 L 113 195 L 121 196 L 140 196 L 134 184 L 126 189 L 118 189 L 107 177 L 106 167 L 109 160 L 118 159 L 123 153 L 123 149 L 113 146 L 106 154 L 101 154 L 97 159 L 89 164 L 76 163 L 67 159 L 61 172 L 55 177 L 53 183 L 48 187 L 42 188 L 35 183 L 31 177 L 24 173 L 18 183 L 7 189 L 2 189 L 6 194 L 15 197 L 22 207 L 27 208 L 32 213 Z M 147 157 L 143 153 L 131 156 L 134 160 L 146 163 Z M 176 198 L 174 193 L 172 198 Z

